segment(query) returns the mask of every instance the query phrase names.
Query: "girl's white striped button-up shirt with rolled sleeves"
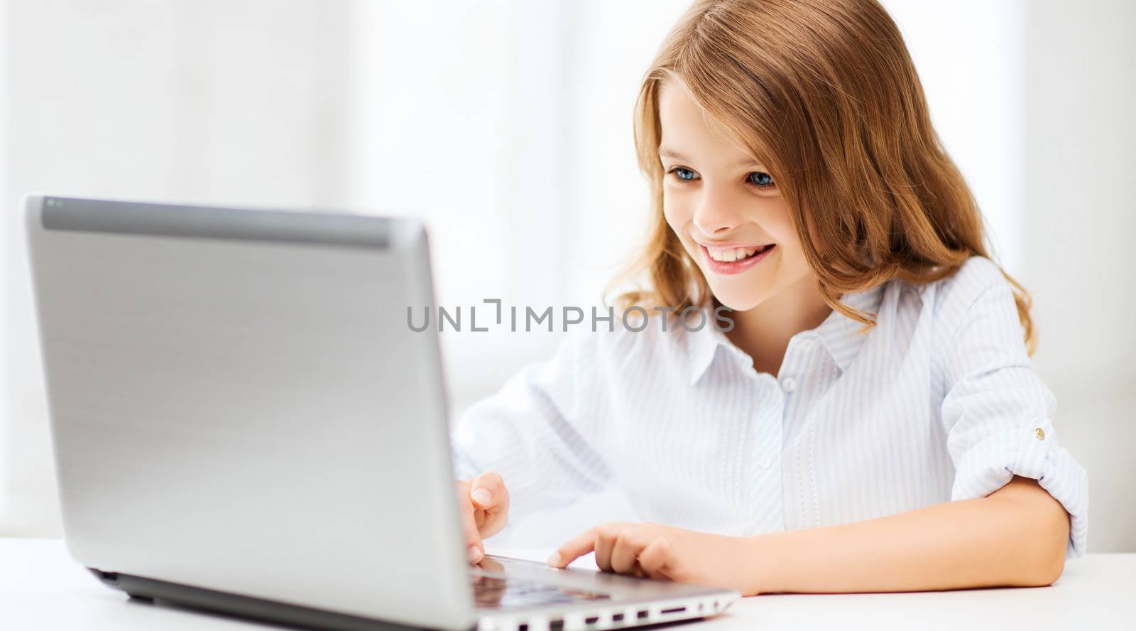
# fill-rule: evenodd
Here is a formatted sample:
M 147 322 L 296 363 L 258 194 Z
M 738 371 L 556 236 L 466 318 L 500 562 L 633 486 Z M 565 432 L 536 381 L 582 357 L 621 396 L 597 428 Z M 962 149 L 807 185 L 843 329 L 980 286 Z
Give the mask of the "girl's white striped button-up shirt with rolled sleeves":
M 1036 479 L 1085 551 L 1088 479 L 1058 445 L 1010 284 L 954 275 L 846 293 L 790 340 L 778 374 L 712 325 L 583 326 L 454 425 L 454 472 L 502 475 L 513 514 L 617 484 L 644 520 L 729 535 L 857 522 Z

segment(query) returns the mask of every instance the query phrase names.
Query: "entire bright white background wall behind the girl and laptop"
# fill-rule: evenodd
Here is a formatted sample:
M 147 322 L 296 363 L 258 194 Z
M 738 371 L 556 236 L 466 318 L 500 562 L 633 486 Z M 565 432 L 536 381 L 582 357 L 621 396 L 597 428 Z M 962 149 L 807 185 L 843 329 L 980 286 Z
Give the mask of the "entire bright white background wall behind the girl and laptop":
M 1136 471 L 1124 451 L 1136 445 L 1127 389 L 1136 344 L 1125 326 L 1136 275 L 1120 242 L 1134 227 L 1136 50 L 1122 36 L 1136 26 L 1133 6 L 885 5 L 997 254 L 1035 292 L 1035 360 L 1058 393 L 1061 440 L 1089 470 L 1091 549 L 1136 550 Z M 2 5 L 0 534 L 59 532 L 15 214 L 22 192 L 415 215 L 433 229 L 442 305 L 596 305 L 643 238 L 632 106 L 685 6 Z M 444 335 L 454 412 L 560 337 Z M 512 534 L 548 542 L 623 510 L 611 492 Z

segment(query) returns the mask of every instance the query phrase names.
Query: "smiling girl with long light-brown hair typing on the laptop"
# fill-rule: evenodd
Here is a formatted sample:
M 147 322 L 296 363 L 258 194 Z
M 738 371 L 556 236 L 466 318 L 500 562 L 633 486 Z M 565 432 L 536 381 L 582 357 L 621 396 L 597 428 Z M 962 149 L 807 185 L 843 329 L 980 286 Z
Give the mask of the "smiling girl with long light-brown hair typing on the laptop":
M 875 0 L 702 0 L 636 103 L 649 326 L 571 335 L 454 431 L 470 561 L 512 510 L 617 484 L 604 571 L 737 589 L 1042 586 L 1087 478 L 1035 374 L 1028 293 Z M 727 307 L 734 325 L 677 326 Z M 666 326 L 667 323 L 670 326 Z

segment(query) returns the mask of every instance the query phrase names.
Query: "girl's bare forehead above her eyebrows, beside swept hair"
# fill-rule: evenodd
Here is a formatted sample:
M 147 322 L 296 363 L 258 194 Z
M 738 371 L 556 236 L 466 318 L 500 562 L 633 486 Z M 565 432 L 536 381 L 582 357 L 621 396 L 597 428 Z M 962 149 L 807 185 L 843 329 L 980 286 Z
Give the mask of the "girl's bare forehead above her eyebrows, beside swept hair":
M 659 85 L 659 148 L 691 159 L 734 163 L 749 153 L 699 105 L 680 81 L 666 80 Z

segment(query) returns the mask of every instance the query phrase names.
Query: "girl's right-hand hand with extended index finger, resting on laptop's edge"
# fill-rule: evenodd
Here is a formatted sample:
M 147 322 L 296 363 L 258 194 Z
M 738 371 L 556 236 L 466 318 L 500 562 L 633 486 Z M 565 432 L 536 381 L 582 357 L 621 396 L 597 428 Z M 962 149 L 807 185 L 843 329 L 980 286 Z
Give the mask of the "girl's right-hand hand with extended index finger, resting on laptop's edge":
M 747 539 L 709 534 L 653 523 L 610 522 L 590 528 L 568 540 L 549 557 L 549 565 L 565 567 L 595 551 L 604 572 L 757 593 L 750 584 L 755 568 L 747 566 Z

